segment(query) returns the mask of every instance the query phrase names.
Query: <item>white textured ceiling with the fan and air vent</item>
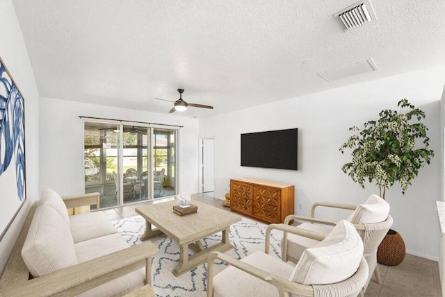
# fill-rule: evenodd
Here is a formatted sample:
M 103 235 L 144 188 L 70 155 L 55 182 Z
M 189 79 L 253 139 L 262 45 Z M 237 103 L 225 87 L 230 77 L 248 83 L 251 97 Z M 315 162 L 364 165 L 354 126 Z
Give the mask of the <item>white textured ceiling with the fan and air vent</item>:
M 186 117 L 445 64 L 444 0 L 371 0 L 377 19 L 344 32 L 333 15 L 356 2 L 13 0 L 40 96 L 167 114 L 154 98 L 181 87 L 214 106 Z M 368 58 L 378 71 L 317 75 Z

